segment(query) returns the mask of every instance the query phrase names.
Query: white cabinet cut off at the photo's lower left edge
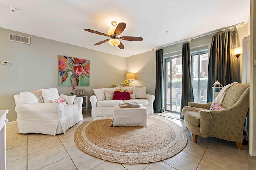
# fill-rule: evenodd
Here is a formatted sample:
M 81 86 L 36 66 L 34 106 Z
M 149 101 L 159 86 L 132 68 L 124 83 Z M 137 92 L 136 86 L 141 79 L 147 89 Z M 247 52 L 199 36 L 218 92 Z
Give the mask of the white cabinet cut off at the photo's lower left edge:
M 9 110 L 0 110 L 0 170 L 6 170 L 6 114 Z

